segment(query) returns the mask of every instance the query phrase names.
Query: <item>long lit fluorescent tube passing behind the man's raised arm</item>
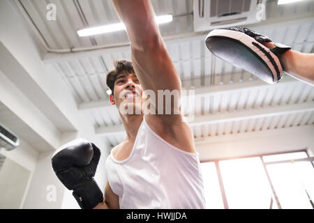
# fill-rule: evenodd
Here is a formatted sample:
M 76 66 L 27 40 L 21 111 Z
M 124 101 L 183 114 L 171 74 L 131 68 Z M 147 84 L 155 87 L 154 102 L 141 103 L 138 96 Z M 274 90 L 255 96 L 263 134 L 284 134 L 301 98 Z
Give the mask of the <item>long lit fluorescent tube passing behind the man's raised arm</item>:
M 172 15 L 160 15 L 155 18 L 157 24 L 163 24 L 166 22 L 172 22 Z M 94 36 L 102 33 L 111 33 L 114 31 L 126 30 L 126 26 L 121 23 L 110 24 L 105 26 L 96 26 L 87 29 L 80 29 L 77 31 L 78 36 Z

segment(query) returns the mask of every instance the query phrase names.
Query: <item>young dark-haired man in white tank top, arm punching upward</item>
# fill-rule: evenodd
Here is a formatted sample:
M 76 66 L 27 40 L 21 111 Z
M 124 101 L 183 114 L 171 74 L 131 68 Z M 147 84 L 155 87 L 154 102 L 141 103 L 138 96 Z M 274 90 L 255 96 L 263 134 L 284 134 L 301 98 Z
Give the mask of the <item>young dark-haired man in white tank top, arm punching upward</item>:
M 205 208 L 193 132 L 183 116 L 175 113 L 180 111 L 179 99 L 172 101 L 170 114 L 165 114 L 168 104 L 158 103 L 158 90 L 180 95 L 181 82 L 160 36 L 151 3 L 114 0 L 114 6 L 126 24 L 132 62 L 117 61 L 107 75 L 107 85 L 126 138 L 107 157 L 105 201 L 96 208 Z M 156 95 L 156 103 L 150 104 L 156 114 L 143 114 L 141 109 L 147 90 Z M 142 112 L 123 114 L 121 109 L 125 107 L 133 107 L 133 113 Z M 163 114 L 158 114 L 160 107 Z

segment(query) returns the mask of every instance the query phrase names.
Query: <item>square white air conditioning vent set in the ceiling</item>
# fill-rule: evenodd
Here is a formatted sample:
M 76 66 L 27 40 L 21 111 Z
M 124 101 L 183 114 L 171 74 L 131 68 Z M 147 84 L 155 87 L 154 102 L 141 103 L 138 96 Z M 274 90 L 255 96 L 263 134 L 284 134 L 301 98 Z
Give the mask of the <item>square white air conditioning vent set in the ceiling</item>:
M 266 0 L 195 0 L 193 4 L 194 30 L 209 31 L 260 22 Z

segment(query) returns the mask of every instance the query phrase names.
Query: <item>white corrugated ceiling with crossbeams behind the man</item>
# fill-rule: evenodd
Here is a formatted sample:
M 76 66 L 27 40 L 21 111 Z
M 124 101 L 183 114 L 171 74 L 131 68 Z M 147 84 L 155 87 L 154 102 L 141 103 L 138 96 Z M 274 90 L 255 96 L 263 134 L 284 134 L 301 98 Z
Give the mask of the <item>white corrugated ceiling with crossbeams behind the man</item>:
M 314 88 L 285 75 L 278 84 L 255 76 L 213 56 L 204 47 L 206 33 L 193 31 L 193 1 L 153 0 L 156 15 L 172 14 L 173 22 L 160 25 L 168 52 L 184 89 L 195 89 L 195 139 L 217 135 L 267 131 L 314 124 Z M 79 112 L 87 117 L 108 146 L 125 137 L 115 107 L 108 102 L 105 77 L 114 59 L 130 59 L 125 31 L 79 38 L 88 26 L 119 22 L 112 1 L 54 0 L 57 21 L 45 20 L 48 1 L 18 0 L 21 13 L 45 45 L 43 61 L 52 65 L 72 92 Z M 248 25 L 274 42 L 314 52 L 314 1 L 277 6 L 267 1 L 266 20 Z M 58 54 L 82 47 L 100 49 Z M 52 53 L 54 52 L 54 53 Z

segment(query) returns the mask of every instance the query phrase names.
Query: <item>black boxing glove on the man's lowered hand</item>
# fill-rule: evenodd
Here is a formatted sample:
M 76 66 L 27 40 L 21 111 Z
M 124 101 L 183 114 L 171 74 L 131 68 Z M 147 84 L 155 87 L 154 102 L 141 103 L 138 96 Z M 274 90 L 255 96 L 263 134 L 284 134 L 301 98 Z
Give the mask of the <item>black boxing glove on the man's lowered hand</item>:
M 85 139 L 70 141 L 52 156 L 54 172 L 68 190 L 73 190 L 73 196 L 83 209 L 103 202 L 103 192 L 94 180 L 99 159 L 99 148 Z

